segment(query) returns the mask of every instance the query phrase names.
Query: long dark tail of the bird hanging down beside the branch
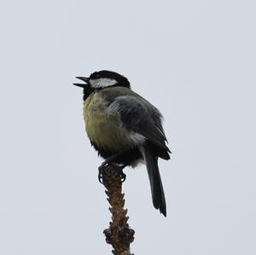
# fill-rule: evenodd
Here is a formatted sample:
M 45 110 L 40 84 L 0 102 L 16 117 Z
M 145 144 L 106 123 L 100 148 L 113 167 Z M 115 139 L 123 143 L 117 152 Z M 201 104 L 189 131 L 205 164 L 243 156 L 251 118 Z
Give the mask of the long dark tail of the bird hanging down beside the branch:
M 157 163 L 158 157 L 152 153 L 147 145 L 143 147 L 142 153 L 148 170 L 154 208 L 159 209 L 160 213 L 166 217 L 166 198 Z

